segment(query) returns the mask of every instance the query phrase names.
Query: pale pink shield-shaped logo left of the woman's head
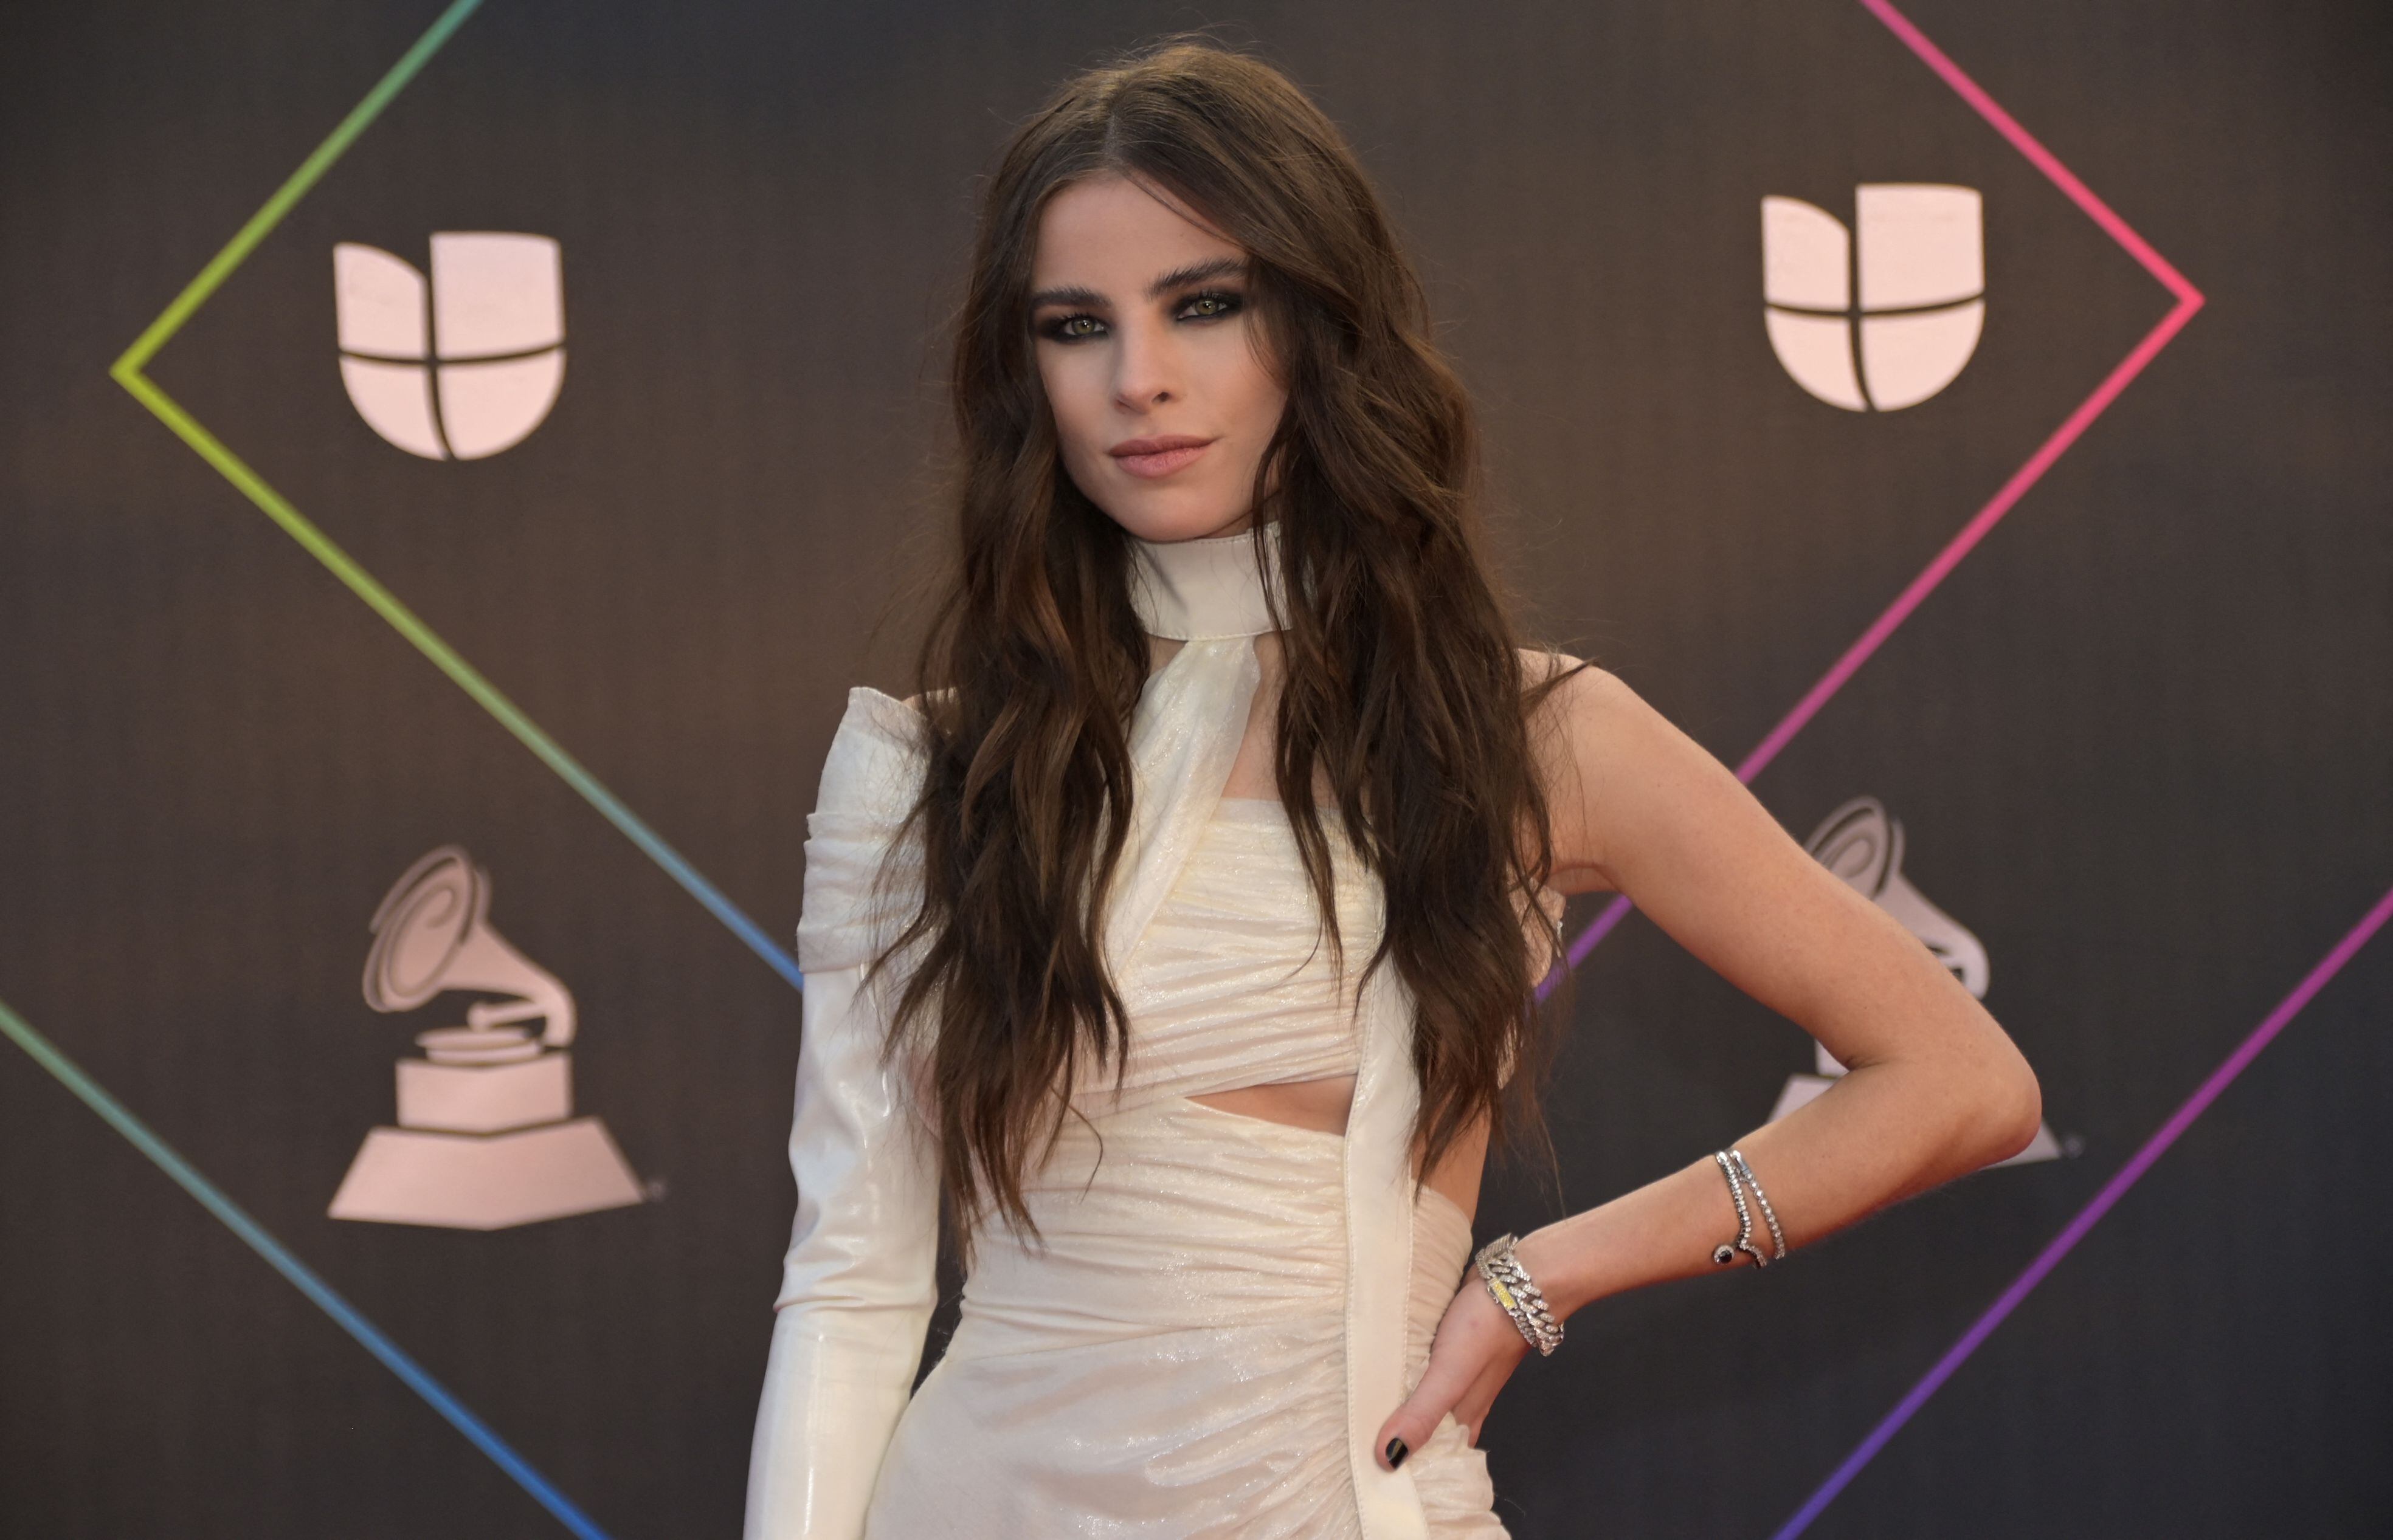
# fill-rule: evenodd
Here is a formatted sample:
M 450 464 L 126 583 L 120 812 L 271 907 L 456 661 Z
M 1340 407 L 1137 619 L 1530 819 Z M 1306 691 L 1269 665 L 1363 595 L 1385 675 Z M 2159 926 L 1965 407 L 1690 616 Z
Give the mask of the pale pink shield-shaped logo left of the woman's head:
M 541 426 L 565 385 L 565 275 L 546 234 L 443 230 L 433 277 L 333 246 L 340 380 L 376 433 L 424 459 L 483 459 Z

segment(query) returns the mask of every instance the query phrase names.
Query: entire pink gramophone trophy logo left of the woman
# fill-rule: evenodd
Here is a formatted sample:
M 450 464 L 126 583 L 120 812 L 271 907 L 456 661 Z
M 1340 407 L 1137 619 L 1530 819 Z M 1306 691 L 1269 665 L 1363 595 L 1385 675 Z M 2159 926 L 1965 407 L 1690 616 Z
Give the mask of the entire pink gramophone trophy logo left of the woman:
M 373 911 L 366 1004 L 412 1012 L 450 990 L 495 1000 L 416 1033 L 400 1124 L 366 1133 L 333 1217 L 507 1229 L 639 1203 L 605 1124 L 574 1117 L 574 997 L 491 925 L 491 875 L 443 844 Z

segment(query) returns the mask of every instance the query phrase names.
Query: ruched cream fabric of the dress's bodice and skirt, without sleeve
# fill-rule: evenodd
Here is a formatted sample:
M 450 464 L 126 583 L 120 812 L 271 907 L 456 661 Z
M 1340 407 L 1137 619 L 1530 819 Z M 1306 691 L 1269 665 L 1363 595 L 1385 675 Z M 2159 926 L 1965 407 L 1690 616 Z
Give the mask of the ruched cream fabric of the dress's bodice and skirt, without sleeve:
M 1039 1241 L 976 1236 L 962 1320 L 897 1423 L 866 1535 L 1359 1540 L 1345 1138 L 1189 1100 L 1357 1071 L 1376 885 L 1333 849 L 1345 968 L 1280 803 L 1218 803 L 1122 971 L 1122 1090 L 1091 1076 L 1074 1098 L 1086 1122 L 1067 1119 L 1027 1188 Z M 1407 1385 L 1469 1239 L 1424 1188 Z M 1453 1418 L 1405 1468 L 1438 1540 L 1505 1533 Z

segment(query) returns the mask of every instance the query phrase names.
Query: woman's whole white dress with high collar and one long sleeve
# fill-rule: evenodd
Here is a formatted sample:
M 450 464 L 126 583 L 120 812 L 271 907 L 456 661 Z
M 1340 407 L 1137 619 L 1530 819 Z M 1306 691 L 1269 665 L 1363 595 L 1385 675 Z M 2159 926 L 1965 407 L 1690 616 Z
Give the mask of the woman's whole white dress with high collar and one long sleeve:
M 809 820 L 799 1215 L 749 1540 L 1505 1533 L 1453 1418 L 1398 1471 L 1374 1459 L 1472 1234 L 1453 1200 L 1414 1191 L 1409 995 L 1393 964 L 1357 988 L 1378 882 L 1331 820 L 1340 971 L 1280 803 L 1220 796 L 1261 627 L 1223 622 L 1235 562 L 1220 579 L 1189 560 L 1252 562 L 1247 540 L 1151 548 L 1177 562 L 1161 583 L 1194 600 L 1144 603 L 1149 629 L 1194 636 L 1132 720 L 1134 825 L 1108 911 L 1127 1078 L 1115 1090 L 1108 1067 L 1074 1088 L 1079 1117 L 1027 1184 L 1041 1241 L 984 1224 L 957 1332 L 912 1397 L 936 1181 L 909 1071 L 873 1052 L 888 992 L 859 976 L 909 909 L 873 878 L 919 784 L 919 717 L 850 696 Z M 1357 1076 L 1345 1133 L 1189 1100 L 1335 1074 Z

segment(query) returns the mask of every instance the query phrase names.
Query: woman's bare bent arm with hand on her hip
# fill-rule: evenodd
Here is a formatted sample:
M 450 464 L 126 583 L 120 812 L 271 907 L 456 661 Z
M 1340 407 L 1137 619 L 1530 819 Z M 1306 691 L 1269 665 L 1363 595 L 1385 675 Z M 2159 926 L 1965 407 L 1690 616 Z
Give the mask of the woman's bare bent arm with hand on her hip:
M 1584 667 L 1546 698 L 1541 753 L 1565 892 L 1615 890 L 1850 1074 L 1735 1141 L 1788 1246 L 2003 1160 L 2041 1119 L 2003 1028 L 1893 916 L 1814 861 L 1721 760 L 1618 677 Z M 1756 1246 L 1768 1232 L 1754 1215 Z M 1711 1155 L 1524 1236 L 1515 1251 L 1567 1315 L 1711 1272 L 1737 1234 Z M 1407 1447 L 1448 1408 L 1472 1437 L 1527 1344 L 1479 1287 L 1457 1291 L 1431 1368 L 1388 1420 Z

